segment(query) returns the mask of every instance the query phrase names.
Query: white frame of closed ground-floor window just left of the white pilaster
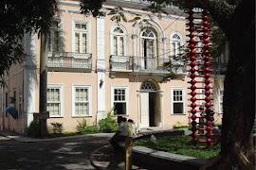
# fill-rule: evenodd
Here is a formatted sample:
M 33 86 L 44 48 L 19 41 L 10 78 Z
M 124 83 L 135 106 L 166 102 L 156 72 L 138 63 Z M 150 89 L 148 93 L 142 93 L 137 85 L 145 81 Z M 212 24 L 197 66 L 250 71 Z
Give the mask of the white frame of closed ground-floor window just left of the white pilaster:
M 88 89 L 88 107 L 89 112 L 88 115 L 76 115 L 76 106 L 75 106 L 75 99 L 76 99 L 76 88 L 83 88 Z M 92 87 L 91 85 L 72 85 L 72 117 L 88 117 L 92 116 Z

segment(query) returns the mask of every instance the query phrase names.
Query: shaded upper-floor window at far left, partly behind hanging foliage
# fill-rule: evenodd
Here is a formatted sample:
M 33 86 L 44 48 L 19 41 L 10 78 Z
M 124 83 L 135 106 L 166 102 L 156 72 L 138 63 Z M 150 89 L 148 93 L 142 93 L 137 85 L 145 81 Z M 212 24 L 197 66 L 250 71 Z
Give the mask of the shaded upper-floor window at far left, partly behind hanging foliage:
M 52 21 L 48 35 L 48 51 L 60 52 L 61 47 L 61 25 L 60 21 Z

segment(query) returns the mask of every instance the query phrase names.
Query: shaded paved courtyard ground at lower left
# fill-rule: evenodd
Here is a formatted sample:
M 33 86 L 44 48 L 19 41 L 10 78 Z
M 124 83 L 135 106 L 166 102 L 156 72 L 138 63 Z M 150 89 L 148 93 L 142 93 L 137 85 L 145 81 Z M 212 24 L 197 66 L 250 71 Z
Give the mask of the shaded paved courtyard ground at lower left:
M 17 142 L 0 137 L 0 169 L 95 169 L 90 153 L 108 144 L 111 135 L 57 141 Z

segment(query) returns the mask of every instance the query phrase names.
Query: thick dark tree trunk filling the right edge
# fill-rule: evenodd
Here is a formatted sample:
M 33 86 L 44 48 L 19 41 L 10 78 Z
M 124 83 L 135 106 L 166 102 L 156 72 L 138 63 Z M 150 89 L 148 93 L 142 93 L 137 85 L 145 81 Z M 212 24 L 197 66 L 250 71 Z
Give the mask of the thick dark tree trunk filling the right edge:
M 205 169 L 255 169 L 255 2 L 245 2 L 234 10 L 229 26 L 222 27 L 230 55 L 224 83 L 221 152 Z

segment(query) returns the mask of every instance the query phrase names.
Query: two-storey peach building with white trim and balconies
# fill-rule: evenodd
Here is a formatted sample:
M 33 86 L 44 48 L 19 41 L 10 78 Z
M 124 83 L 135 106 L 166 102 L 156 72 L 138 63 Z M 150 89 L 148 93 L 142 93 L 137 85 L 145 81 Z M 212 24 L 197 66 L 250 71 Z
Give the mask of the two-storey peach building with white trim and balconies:
M 174 79 L 160 82 L 169 73 L 163 63 L 184 52 L 186 14 L 169 6 L 170 15 L 158 18 L 142 10 L 147 5 L 146 1 L 108 0 L 101 8 L 104 15 L 94 18 L 81 14 L 79 1 L 59 1 L 47 46 L 49 128 L 51 122 L 58 122 L 64 131 L 75 131 L 82 118 L 87 125 L 97 125 L 114 105 L 118 115 L 133 119 L 140 129 L 172 128 L 177 122 L 188 125 L 190 77 L 186 66 L 177 70 Z M 140 18 L 112 21 L 108 13 L 116 7 L 123 8 L 127 20 Z M 0 92 L 1 128 L 18 133 L 27 132 L 33 112 L 39 111 L 37 33 L 25 35 L 24 49 L 26 57 L 10 68 L 5 76 L 8 87 Z M 217 123 L 222 118 L 224 79 L 219 73 L 212 76 Z M 18 110 L 17 119 L 5 111 L 8 106 Z

